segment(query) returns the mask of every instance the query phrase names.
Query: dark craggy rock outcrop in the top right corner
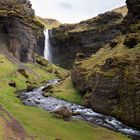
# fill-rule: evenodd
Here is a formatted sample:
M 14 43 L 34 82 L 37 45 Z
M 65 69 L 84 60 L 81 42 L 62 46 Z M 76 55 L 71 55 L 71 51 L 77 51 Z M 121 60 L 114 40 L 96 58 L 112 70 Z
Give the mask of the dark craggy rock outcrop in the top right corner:
M 124 44 L 134 48 L 140 43 L 140 0 L 127 0 L 128 14 L 123 20 L 122 32 L 126 34 Z

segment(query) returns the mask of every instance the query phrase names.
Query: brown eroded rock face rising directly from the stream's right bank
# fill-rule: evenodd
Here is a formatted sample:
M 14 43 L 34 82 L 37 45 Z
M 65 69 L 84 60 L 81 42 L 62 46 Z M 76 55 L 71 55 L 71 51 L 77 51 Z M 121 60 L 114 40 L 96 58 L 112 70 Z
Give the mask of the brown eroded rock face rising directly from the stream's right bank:
M 82 61 L 72 70 L 72 80 L 86 106 L 139 127 L 140 57 L 139 53 L 125 55 L 108 58 L 101 65 L 94 65 L 94 58 Z

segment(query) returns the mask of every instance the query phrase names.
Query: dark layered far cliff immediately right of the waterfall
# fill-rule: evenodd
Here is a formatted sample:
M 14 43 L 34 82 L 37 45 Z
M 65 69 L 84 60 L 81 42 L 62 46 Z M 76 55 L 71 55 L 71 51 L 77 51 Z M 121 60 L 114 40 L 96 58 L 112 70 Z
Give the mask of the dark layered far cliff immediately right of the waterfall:
M 107 12 L 79 24 L 65 24 L 50 32 L 52 61 L 71 68 L 77 53 L 89 57 L 105 44 L 121 34 L 119 28 L 123 16 L 118 12 Z

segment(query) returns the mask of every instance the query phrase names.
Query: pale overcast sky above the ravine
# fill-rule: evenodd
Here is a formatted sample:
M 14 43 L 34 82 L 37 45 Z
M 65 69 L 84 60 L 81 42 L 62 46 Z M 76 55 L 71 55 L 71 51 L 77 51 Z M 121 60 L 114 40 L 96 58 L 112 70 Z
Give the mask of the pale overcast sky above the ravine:
M 30 0 L 36 15 L 75 23 L 125 5 L 125 0 Z

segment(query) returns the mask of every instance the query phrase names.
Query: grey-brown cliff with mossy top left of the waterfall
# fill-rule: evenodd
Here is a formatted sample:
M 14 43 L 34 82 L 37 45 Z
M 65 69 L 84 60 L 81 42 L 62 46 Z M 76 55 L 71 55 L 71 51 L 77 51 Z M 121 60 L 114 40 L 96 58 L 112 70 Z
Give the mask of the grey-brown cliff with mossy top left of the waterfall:
M 34 53 L 44 53 L 44 27 L 35 20 L 28 0 L 0 1 L 0 52 L 8 52 L 22 62 L 34 61 Z

